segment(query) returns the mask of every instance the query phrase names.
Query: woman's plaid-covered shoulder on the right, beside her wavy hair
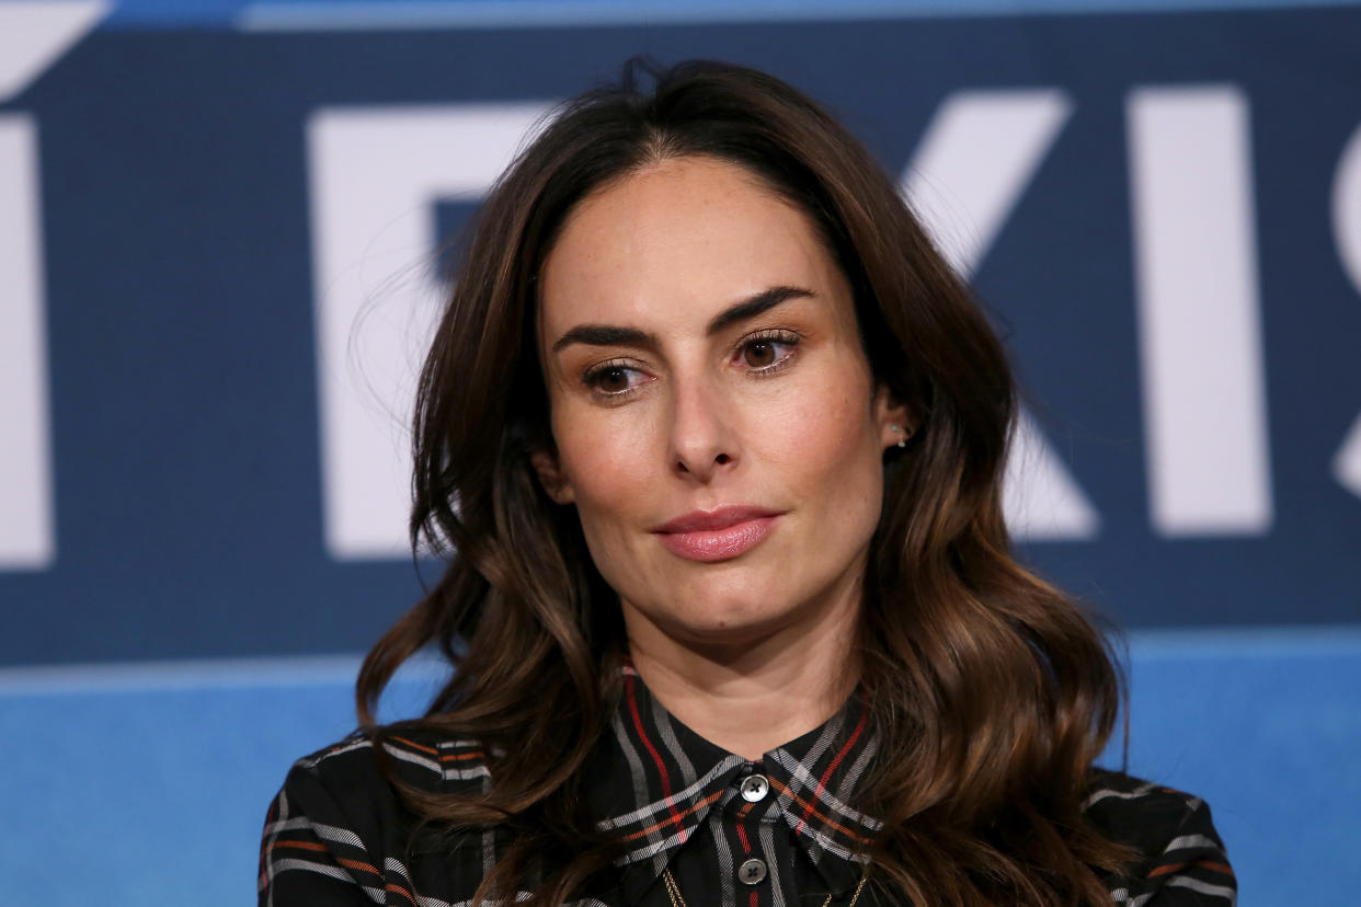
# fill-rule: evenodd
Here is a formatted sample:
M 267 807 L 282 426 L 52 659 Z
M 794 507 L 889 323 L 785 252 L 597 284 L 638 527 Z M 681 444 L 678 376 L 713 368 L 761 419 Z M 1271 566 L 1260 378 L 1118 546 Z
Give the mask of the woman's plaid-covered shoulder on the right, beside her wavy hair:
M 1094 770 L 1083 809 L 1104 835 L 1138 851 L 1130 872 L 1109 880 L 1115 903 L 1229 907 L 1236 902 L 1233 869 L 1202 798 Z

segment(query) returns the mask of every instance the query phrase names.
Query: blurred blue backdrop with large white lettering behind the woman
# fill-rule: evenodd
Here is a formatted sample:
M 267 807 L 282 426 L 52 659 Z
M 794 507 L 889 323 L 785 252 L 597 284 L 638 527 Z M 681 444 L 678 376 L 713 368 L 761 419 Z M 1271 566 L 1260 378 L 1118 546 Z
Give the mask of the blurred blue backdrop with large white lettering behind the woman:
M 1128 770 L 1243 904 L 1356 903 L 1361 4 L 1271 0 L 0 0 L 0 902 L 255 897 L 429 567 L 441 239 L 634 54 L 901 181 L 1014 352 L 1023 556 L 1126 630 Z

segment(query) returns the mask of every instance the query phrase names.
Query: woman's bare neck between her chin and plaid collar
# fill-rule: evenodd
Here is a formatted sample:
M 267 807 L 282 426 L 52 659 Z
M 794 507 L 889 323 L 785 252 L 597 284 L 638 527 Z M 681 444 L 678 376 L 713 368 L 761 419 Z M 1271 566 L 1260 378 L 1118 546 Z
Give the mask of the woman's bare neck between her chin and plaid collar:
M 625 613 L 633 666 L 648 691 L 697 734 L 744 759 L 822 725 L 860 677 L 859 596 L 740 642 L 679 639 L 627 606 Z

